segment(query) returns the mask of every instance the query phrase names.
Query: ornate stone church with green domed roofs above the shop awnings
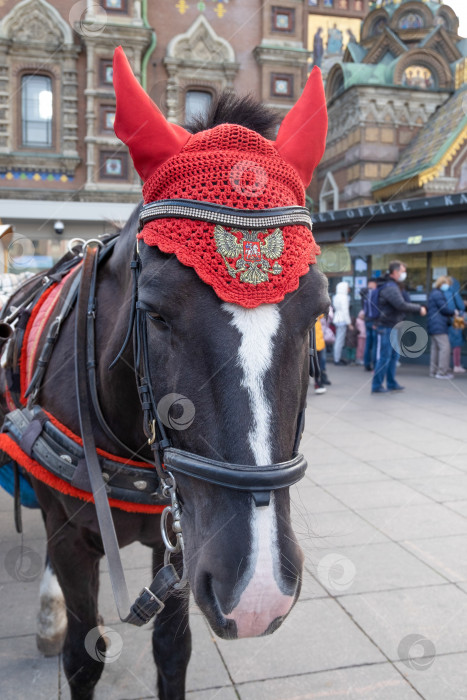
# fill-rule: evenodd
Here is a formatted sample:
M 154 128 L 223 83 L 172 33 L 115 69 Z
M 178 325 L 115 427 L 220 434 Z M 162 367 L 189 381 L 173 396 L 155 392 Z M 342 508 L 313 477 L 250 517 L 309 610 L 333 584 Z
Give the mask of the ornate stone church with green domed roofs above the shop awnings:
M 467 40 L 448 5 L 381 0 L 328 75 L 320 210 L 466 189 Z

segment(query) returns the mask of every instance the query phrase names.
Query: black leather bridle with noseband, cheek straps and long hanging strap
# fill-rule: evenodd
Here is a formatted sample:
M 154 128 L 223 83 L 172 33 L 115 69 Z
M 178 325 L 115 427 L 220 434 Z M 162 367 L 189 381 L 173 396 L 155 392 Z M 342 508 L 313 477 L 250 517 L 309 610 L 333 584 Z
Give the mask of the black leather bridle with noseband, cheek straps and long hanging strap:
M 291 213 L 297 215 L 296 207 L 291 207 L 290 209 L 293 210 Z M 238 215 L 238 210 L 234 211 L 236 215 Z M 268 215 L 274 216 L 275 213 L 276 212 L 273 210 L 269 210 Z M 287 207 L 277 211 L 278 217 L 283 217 L 286 213 Z M 148 210 L 144 210 L 143 214 L 144 223 L 147 223 L 149 220 Z M 261 212 L 261 214 L 263 214 L 263 212 Z M 298 212 L 298 214 L 303 216 L 302 212 Z M 158 210 L 154 214 L 154 218 L 160 215 L 161 210 Z M 165 215 L 167 215 L 167 213 L 165 213 Z M 224 216 L 225 212 L 222 212 L 222 215 Z M 128 328 L 123 345 L 111 367 L 120 359 L 129 342 L 133 340 L 136 383 L 143 410 L 143 428 L 148 438 L 154 464 L 161 481 L 162 494 L 167 499 L 170 499 L 170 505 L 165 508 L 161 517 L 162 537 L 166 546 L 164 567 L 158 572 L 152 584 L 148 588 L 143 589 L 139 598 L 133 606 L 131 606 L 130 613 L 128 614 L 127 611 L 130 606 L 128 590 L 126 588 L 110 506 L 105 488 L 103 488 L 105 485 L 102 480 L 102 473 L 97 458 L 96 446 L 94 444 L 90 414 L 90 405 L 92 404 L 101 426 L 105 426 L 106 434 L 113 435 L 109 426 L 107 426 L 104 421 L 102 411 L 99 407 L 96 409 L 96 403 L 98 402 L 97 392 L 95 391 L 95 362 L 89 361 L 89 346 L 91 343 L 94 343 L 93 328 L 96 311 L 95 294 L 98 259 L 98 249 L 93 246 L 85 245 L 75 331 L 76 384 L 80 427 L 89 479 L 92 486 L 104 550 L 109 560 L 109 573 L 120 618 L 126 622 L 141 625 L 148 622 L 163 609 L 163 600 L 172 590 L 181 588 L 187 583 L 184 560 L 181 580 L 173 565 L 170 563 L 170 558 L 173 554 L 181 553 L 183 557 L 184 550 L 181 529 L 181 507 L 175 475 L 183 474 L 225 488 L 247 492 L 252 495 L 256 506 L 268 505 L 272 491 L 295 484 L 305 473 L 307 467 L 306 460 L 303 455 L 298 453 L 298 446 L 303 432 L 304 408 L 302 408 L 297 422 L 293 455 L 292 458 L 286 462 L 259 466 L 234 464 L 213 460 L 173 447 L 157 410 L 151 381 L 147 318 L 148 314 L 153 310 L 138 298 L 142 262 L 139 256 L 138 243 L 136 243 L 133 259 L 130 263 L 132 273 L 132 298 Z M 120 441 L 118 442 L 122 444 Z M 169 514 L 172 516 L 170 529 L 176 537 L 175 542 L 172 542 L 169 533 Z

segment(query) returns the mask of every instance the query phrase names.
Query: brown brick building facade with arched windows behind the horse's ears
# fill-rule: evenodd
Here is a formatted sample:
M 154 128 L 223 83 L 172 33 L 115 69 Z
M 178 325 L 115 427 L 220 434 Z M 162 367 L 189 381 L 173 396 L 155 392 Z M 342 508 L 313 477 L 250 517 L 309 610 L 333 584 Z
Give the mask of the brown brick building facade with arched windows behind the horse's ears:
M 306 80 L 306 18 L 304 0 L 0 0 L 0 220 L 56 257 L 127 218 L 141 186 L 113 132 L 116 46 L 171 121 L 223 89 L 285 114 Z

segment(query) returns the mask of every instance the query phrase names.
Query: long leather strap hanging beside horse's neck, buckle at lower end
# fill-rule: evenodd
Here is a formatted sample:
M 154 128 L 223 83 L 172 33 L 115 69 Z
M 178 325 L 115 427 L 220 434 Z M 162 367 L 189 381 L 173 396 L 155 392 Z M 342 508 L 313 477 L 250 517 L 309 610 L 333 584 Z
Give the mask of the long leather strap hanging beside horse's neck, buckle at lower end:
M 109 563 L 110 581 L 118 614 L 123 622 L 141 626 L 154 615 L 161 612 L 164 607 L 163 601 L 165 597 L 170 594 L 178 583 L 179 577 L 172 564 L 166 564 L 158 571 L 149 588 L 144 588 L 141 591 L 138 599 L 130 609 L 128 588 L 105 483 L 97 456 L 92 418 L 89 410 L 91 397 L 87 381 L 86 344 L 88 314 L 93 311 L 89 307 L 89 297 L 95 285 L 97 262 L 97 248 L 86 246 L 75 325 L 75 375 L 79 422 L 89 480 L 94 496 L 102 543 Z

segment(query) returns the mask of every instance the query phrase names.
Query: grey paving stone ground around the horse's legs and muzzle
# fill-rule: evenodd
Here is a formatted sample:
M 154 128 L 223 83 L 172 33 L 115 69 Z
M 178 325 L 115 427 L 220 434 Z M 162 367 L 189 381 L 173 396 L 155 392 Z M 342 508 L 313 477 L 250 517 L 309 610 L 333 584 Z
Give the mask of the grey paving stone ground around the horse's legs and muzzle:
M 429 379 L 403 365 L 401 393 L 370 394 L 359 367 L 330 367 L 310 387 L 292 491 L 305 552 L 301 598 L 272 636 L 214 637 L 193 605 L 188 700 L 456 700 L 467 698 L 467 376 Z M 23 509 L 24 545 L 45 552 L 37 511 Z M 0 697 L 70 697 L 60 657 L 36 650 L 39 578 L 18 581 L 5 556 L 21 544 L 0 494 Z M 138 592 L 150 551 L 123 550 Z M 118 621 L 105 561 L 100 611 L 122 638 L 96 699 L 155 697 L 150 629 Z

